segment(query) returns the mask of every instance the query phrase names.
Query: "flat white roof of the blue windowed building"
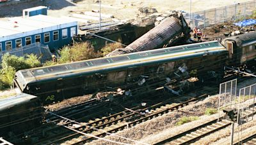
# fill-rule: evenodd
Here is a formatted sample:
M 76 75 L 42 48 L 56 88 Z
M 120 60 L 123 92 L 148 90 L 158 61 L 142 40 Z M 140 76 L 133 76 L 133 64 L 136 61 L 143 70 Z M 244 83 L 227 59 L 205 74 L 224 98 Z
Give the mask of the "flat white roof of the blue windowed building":
M 36 15 L 27 18 L 10 18 L 8 21 L 0 21 L 0 41 L 6 41 L 7 37 L 12 36 L 13 39 L 26 36 L 26 33 L 32 35 L 51 29 L 63 29 L 77 25 L 74 20 L 67 18 L 57 18 L 46 15 Z

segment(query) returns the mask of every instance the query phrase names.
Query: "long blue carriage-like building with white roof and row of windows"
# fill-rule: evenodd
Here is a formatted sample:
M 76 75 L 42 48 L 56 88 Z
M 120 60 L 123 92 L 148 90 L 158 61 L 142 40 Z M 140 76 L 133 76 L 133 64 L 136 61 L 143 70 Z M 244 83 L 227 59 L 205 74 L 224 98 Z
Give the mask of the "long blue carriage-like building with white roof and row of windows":
M 41 43 L 51 51 L 68 45 L 77 34 L 77 22 L 65 18 L 36 15 L 0 21 L 0 51 Z

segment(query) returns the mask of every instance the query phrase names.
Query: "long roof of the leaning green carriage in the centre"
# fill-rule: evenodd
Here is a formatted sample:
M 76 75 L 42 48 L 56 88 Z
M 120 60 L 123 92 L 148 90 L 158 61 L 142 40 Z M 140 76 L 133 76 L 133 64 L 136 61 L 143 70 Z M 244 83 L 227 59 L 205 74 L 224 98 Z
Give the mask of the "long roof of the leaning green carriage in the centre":
M 188 57 L 200 57 L 202 55 L 212 55 L 226 51 L 218 41 L 209 41 L 205 43 L 195 43 L 192 45 L 174 46 L 161 48 L 157 50 L 148 50 L 145 52 L 128 53 L 114 57 L 103 57 L 99 59 L 84 60 L 58 66 L 38 67 L 25 69 L 16 73 L 17 81 L 26 85 L 28 82 L 38 81 L 40 79 L 61 78 L 76 73 L 107 70 L 109 68 L 120 69 L 129 66 L 158 63 L 170 60 L 187 59 Z

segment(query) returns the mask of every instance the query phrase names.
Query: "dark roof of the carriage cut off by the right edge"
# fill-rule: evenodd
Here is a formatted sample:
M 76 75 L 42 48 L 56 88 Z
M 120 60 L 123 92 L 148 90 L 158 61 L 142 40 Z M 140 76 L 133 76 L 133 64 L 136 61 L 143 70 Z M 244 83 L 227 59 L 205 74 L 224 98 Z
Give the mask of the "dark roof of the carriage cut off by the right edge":
M 240 34 L 237 36 L 232 36 L 230 38 L 225 38 L 223 41 L 233 40 L 236 41 L 237 46 L 246 46 L 256 43 L 256 32 L 248 32 L 245 34 Z

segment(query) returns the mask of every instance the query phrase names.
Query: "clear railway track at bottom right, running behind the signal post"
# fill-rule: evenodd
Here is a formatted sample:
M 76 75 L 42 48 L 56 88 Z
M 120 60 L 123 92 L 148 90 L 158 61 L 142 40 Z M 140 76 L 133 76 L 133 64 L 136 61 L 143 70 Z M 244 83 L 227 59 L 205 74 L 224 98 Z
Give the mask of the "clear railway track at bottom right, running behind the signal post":
M 256 109 L 256 103 L 250 106 L 254 106 Z M 256 114 L 252 111 L 252 107 L 248 109 L 248 112 L 250 114 L 244 114 L 244 116 L 241 116 L 241 118 L 246 118 L 247 116 L 252 116 Z M 198 125 L 197 127 L 191 128 L 189 130 L 186 130 L 180 134 L 174 135 L 172 137 L 169 137 L 168 139 L 164 139 L 163 141 L 156 142 L 155 145 L 159 144 L 190 144 L 192 142 L 198 141 L 198 139 L 201 139 L 202 137 L 205 137 L 206 135 L 212 134 L 213 132 L 216 132 L 218 130 L 221 130 L 222 128 L 228 127 L 231 125 L 232 122 L 225 120 L 225 116 L 221 116 L 219 119 L 214 119 L 211 121 L 208 121 L 207 123 L 204 123 L 202 125 Z

